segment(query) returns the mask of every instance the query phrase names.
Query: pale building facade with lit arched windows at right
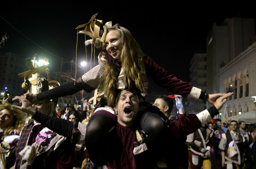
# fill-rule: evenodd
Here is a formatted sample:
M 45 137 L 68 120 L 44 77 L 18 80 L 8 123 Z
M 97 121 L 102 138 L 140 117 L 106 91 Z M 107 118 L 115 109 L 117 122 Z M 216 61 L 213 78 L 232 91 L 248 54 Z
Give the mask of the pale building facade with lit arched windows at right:
M 218 77 L 221 93 L 226 93 L 229 86 L 234 90 L 234 95 L 226 102 L 229 117 L 254 111 L 251 97 L 256 96 L 256 42 L 223 66 Z

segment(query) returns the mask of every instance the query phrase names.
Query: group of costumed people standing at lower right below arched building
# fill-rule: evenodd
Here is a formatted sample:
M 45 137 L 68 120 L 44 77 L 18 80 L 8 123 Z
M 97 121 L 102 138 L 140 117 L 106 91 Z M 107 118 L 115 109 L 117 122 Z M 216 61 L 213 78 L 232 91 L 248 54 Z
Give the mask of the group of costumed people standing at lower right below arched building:
M 189 166 L 192 169 L 254 169 L 255 123 L 212 119 L 187 136 Z

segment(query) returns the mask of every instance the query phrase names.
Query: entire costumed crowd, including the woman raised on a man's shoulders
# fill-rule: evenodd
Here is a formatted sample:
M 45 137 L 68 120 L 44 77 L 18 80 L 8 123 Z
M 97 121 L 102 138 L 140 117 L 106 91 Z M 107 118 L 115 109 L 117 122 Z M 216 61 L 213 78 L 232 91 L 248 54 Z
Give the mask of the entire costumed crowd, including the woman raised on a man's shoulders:
M 231 121 L 222 132 L 221 121 L 214 119 L 233 91 L 208 94 L 177 79 L 141 51 L 128 29 L 111 22 L 100 27 L 94 17 L 79 33 L 90 35 L 90 42 L 102 51 L 99 65 L 53 89 L 38 76 L 36 87 L 14 97 L 12 104 L 3 103 L 1 169 L 181 169 L 186 163 L 192 169 L 242 168 L 247 162 L 254 166 L 253 129 L 239 132 L 238 122 Z M 147 77 L 176 98 L 189 95 L 212 106 L 186 115 L 180 100 L 157 96 L 149 103 Z M 105 95 L 95 105 L 83 100 L 82 109 L 57 106 L 58 97 L 98 87 Z M 175 104 L 178 114 L 172 118 Z M 242 129 L 243 123 L 239 126 Z M 251 155 L 242 152 L 244 147 Z

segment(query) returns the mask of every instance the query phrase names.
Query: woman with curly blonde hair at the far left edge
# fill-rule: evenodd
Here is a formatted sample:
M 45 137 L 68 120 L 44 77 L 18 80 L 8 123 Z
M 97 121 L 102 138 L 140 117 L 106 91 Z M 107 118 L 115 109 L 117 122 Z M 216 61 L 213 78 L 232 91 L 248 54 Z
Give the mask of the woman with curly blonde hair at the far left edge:
M 5 103 L 0 105 L 0 144 L 1 148 L 9 147 L 0 151 L 0 168 L 9 169 L 15 163 L 14 149 L 20 139 L 19 135 L 12 132 L 14 129 L 21 130 L 25 122 L 23 112 L 13 109 L 12 104 Z M 4 143 L 3 143 L 4 142 Z

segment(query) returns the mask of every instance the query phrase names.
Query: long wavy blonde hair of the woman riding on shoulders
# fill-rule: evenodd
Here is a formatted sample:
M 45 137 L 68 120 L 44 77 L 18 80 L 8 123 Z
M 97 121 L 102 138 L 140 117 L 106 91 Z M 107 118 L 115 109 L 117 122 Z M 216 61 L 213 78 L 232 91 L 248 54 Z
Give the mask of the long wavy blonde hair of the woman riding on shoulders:
M 118 24 L 108 29 L 116 30 L 119 32 L 122 38 L 122 53 L 121 62 L 124 72 L 125 86 L 128 87 L 131 83 L 135 83 L 135 86 L 143 92 L 143 81 L 140 77 L 141 65 L 143 63 L 143 56 L 145 55 L 140 49 L 140 45 L 132 36 L 131 32 Z M 105 64 L 105 72 L 100 86 L 100 92 L 105 92 L 107 95 L 108 105 L 112 105 L 116 99 L 116 89 L 118 88 L 118 76 L 119 70 L 114 63 Z

